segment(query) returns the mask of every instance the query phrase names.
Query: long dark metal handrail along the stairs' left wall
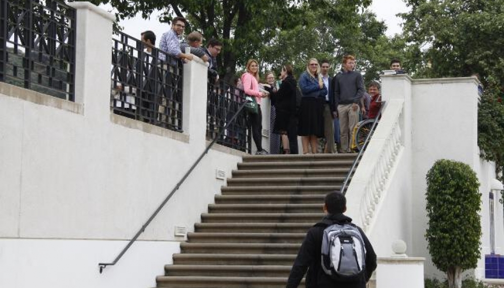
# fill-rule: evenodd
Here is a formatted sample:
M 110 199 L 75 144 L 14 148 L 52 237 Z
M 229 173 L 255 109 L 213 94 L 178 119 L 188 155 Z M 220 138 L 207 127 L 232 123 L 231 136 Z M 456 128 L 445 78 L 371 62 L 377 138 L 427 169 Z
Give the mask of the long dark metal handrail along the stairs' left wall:
M 175 185 L 175 188 L 173 188 L 173 190 L 170 192 L 170 194 L 168 194 L 168 196 L 166 196 L 166 198 L 161 202 L 159 207 L 149 217 L 149 219 L 145 222 L 145 224 L 142 225 L 140 230 L 138 230 L 138 232 L 135 234 L 133 239 L 131 239 L 130 242 L 128 242 L 128 244 L 122 249 L 122 251 L 119 253 L 119 255 L 117 255 L 117 257 L 114 259 L 114 261 L 112 263 L 98 263 L 98 266 L 100 266 L 100 274 L 103 272 L 103 269 L 105 269 L 107 266 L 115 265 L 119 261 L 119 259 L 122 258 L 124 253 L 126 253 L 126 251 L 128 251 L 128 249 L 130 249 L 131 245 L 133 245 L 133 243 L 137 240 L 137 238 L 140 236 L 140 234 L 142 234 L 145 231 L 145 228 L 147 228 L 147 226 L 157 216 L 157 214 L 161 211 L 161 209 L 163 209 L 164 205 L 170 200 L 170 198 L 173 196 L 173 194 L 180 188 L 180 186 L 184 183 L 184 181 L 187 179 L 187 177 L 189 177 L 189 175 L 194 170 L 194 168 L 196 168 L 196 166 L 199 164 L 201 159 L 206 155 L 206 153 L 208 153 L 210 148 L 212 148 L 212 146 L 214 146 L 214 144 L 217 142 L 217 140 L 221 137 L 222 133 L 224 133 L 224 131 L 228 128 L 228 126 L 234 121 L 236 116 L 241 112 L 241 110 L 243 109 L 243 107 L 245 107 L 246 104 L 247 104 L 247 101 L 246 100 L 243 101 L 243 103 L 240 105 L 240 107 L 238 108 L 236 113 L 233 115 L 233 117 L 231 117 L 231 119 L 227 122 L 226 126 L 219 132 L 219 134 L 214 138 L 214 140 L 210 144 L 208 144 L 208 146 L 206 146 L 206 149 L 201 153 L 201 155 L 199 155 L 199 157 L 196 159 L 196 161 L 192 164 L 191 168 L 189 168 L 189 170 L 184 174 L 182 179 L 180 179 L 180 181 L 177 183 L 177 185 Z

